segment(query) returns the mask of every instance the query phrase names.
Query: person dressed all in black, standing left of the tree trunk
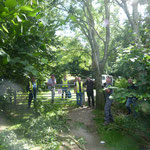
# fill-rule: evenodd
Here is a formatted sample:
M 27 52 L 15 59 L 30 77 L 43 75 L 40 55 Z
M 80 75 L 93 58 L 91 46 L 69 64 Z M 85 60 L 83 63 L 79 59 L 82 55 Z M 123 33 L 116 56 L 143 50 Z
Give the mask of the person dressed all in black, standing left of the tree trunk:
M 88 106 L 91 107 L 90 98 L 92 98 L 92 108 L 94 108 L 94 82 L 88 77 L 84 85 L 87 86 Z

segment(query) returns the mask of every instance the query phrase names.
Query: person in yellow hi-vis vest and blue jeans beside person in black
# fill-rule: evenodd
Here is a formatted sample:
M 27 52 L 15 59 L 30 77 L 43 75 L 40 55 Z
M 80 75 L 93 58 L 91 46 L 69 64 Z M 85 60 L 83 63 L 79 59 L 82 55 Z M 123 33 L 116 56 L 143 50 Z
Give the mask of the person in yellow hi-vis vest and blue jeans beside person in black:
M 75 91 L 76 91 L 76 96 L 77 96 L 77 105 L 82 107 L 84 88 L 83 88 L 83 82 L 81 81 L 81 77 L 78 77 L 78 80 L 75 83 Z

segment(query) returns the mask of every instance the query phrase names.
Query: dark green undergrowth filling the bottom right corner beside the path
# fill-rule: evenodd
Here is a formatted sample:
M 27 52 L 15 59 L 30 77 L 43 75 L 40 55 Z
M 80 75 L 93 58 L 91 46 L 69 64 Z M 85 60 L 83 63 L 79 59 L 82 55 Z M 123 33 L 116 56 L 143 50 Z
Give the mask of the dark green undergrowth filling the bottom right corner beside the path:
M 115 114 L 115 122 L 103 126 L 104 113 L 94 111 L 95 121 L 101 140 L 110 150 L 148 150 L 150 140 L 149 121 L 143 116 L 133 118 L 124 114 Z

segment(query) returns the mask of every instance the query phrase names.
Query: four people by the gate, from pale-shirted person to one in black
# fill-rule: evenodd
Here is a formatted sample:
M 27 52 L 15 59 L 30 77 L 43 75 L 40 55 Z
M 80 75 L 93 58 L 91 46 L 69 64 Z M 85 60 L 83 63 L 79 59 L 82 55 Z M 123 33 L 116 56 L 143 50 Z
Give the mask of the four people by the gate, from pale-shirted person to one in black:
M 47 85 L 48 85 L 48 89 L 51 90 L 51 95 L 52 95 L 51 103 L 53 103 L 55 97 L 55 85 L 56 85 L 56 78 L 53 74 L 51 75 L 51 78 L 48 80 Z M 76 93 L 77 105 L 81 107 L 83 106 L 83 95 L 84 95 L 85 85 L 87 86 L 88 106 L 89 107 L 92 106 L 92 108 L 94 108 L 94 91 L 93 91 L 94 82 L 89 77 L 87 78 L 85 83 L 83 83 L 81 77 L 75 78 L 74 91 Z M 64 95 L 65 95 L 65 99 L 67 98 L 68 89 L 70 89 L 70 84 L 65 75 L 64 78 L 62 79 L 62 99 L 64 98 Z M 92 99 L 92 104 L 90 99 Z

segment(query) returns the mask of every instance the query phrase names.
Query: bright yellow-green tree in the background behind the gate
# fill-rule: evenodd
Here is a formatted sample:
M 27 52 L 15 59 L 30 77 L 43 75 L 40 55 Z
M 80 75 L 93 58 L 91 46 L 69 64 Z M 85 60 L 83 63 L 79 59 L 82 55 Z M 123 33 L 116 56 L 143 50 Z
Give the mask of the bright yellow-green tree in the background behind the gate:
M 78 39 L 78 36 L 61 37 L 61 45 L 56 51 L 56 65 L 53 72 L 60 79 L 64 74 L 71 74 L 72 76 L 81 76 L 85 78 L 91 76 L 91 55 L 90 49 L 87 45 L 83 45 Z M 57 69 L 56 69 L 57 68 Z

